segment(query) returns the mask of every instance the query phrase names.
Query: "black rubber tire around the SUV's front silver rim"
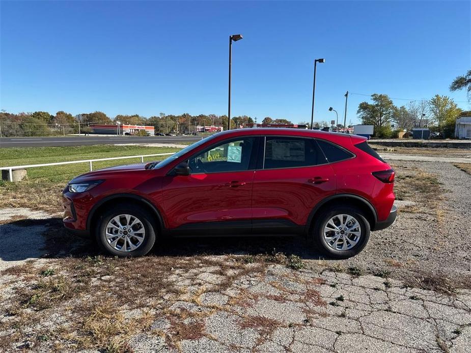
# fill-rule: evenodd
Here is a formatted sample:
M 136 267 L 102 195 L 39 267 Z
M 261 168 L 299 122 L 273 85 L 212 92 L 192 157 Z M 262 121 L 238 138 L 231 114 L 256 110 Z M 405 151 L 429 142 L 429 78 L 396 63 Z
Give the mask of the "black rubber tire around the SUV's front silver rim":
M 136 217 L 139 221 L 141 221 L 144 227 L 144 240 L 135 250 L 117 250 L 113 248 L 110 244 L 108 244 L 108 241 L 106 240 L 106 226 L 108 225 L 108 222 L 110 220 L 112 220 L 118 215 L 130 215 L 132 217 Z M 116 205 L 112 209 L 104 212 L 103 215 L 98 219 L 96 239 L 100 248 L 108 254 L 120 257 L 144 256 L 154 246 L 156 239 L 155 229 L 157 229 L 157 227 L 155 226 L 154 217 L 152 217 L 152 215 L 150 215 L 149 212 L 147 212 L 146 210 L 134 205 L 132 207 L 126 205 Z M 134 241 L 136 241 L 136 239 L 134 239 Z

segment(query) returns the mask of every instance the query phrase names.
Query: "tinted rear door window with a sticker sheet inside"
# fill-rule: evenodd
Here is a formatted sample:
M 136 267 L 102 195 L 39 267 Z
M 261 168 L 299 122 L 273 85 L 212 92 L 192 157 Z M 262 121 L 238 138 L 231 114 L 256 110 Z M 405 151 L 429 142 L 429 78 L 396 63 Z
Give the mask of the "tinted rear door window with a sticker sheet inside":
M 312 138 L 266 137 L 264 169 L 307 167 L 325 163 Z

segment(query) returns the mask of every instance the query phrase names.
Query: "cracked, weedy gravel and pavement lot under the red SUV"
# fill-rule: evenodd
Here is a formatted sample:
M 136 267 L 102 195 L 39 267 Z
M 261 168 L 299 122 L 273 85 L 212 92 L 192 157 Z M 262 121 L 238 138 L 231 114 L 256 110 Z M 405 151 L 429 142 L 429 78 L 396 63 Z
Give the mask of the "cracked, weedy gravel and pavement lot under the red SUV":
M 2 210 L 0 351 L 469 352 L 471 175 L 394 167 L 398 220 L 348 260 L 293 238 L 109 258 L 57 216 Z

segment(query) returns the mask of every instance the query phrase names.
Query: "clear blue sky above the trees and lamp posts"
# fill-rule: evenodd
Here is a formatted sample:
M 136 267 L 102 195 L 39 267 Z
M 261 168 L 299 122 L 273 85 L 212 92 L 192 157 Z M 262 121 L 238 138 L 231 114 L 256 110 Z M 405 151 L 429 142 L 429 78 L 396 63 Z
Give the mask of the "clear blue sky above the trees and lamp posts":
M 0 108 L 308 121 L 343 116 L 348 90 L 394 98 L 449 95 L 471 68 L 471 2 L 0 3 Z M 358 103 L 351 95 L 347 123 Z M 462 103 L 461 103 L 462 102 Z M 407 101 L 395 100 L 397 105 Z

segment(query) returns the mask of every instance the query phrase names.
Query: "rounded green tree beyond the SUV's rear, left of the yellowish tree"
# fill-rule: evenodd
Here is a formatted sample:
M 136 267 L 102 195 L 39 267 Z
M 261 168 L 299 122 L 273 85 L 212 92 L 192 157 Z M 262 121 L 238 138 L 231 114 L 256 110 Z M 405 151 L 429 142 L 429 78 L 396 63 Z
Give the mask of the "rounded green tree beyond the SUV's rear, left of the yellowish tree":
M 378 132 L 383 126 L 390 125 L 394 119 L 394 104 L 387 95 L 371 95 L 373 104 L 362 102 L 358 105 L 357 114 L 362 119 L 362 123 L 366 125 L 374 125 Z

